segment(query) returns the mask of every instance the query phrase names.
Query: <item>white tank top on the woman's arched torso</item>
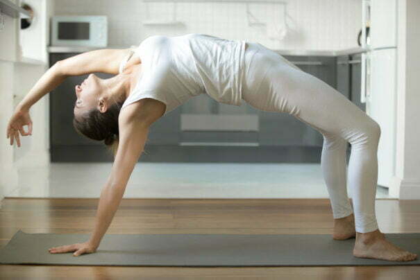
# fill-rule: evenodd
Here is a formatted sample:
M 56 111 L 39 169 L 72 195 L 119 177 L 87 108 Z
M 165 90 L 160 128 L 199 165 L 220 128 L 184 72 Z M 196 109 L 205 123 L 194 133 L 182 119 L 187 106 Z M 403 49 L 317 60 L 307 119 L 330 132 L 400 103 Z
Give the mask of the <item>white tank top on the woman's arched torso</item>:
M 167 114 L 199 94 L 240 106 L 245 44 L 198 33 L 147 37 L 120 63 L 119 73 L 135 53 L 144 70 L 121 110 L 142 98 L 153 98 L 165 103 Z

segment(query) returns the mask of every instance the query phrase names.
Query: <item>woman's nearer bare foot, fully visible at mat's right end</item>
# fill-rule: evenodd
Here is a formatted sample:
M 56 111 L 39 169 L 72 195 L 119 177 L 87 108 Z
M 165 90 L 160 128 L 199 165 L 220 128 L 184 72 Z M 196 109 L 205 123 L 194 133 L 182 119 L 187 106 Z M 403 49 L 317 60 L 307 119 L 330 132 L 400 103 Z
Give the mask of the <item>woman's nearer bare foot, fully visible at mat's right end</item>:
M 412 261 L 417 259 L 417 254 L 405 251 L 386 240 L 385 235 L 379 229 L 365 234 L 358 232 L 353 255 L 358 258 L 385 261 Z

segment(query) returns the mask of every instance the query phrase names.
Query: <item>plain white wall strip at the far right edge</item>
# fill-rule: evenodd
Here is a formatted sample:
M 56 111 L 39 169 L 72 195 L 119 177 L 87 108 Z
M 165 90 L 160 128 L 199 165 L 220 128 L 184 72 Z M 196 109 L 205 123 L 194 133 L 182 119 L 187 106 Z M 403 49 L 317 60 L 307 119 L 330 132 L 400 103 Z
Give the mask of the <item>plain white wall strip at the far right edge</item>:
M 395 192 L 420 199 L 420 1 L 398 1 L 398 94 Z

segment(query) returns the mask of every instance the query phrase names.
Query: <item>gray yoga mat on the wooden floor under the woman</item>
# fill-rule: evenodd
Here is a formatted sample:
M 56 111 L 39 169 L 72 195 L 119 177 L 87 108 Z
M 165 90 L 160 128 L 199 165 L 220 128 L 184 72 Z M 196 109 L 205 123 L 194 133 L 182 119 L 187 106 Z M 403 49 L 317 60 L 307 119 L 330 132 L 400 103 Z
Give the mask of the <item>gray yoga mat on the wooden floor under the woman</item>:
M 355 258 L 355 238 L 330 234 L 106 234 L 94 254 L 50 254 L 49 247 L 81 243 L 90 234 L 26 234 L 19 230 L 0 249 L 0 263 L 123 266 L 420 265 L 414 261 Z M 385 234 L 420 253 L 420 234 Z

